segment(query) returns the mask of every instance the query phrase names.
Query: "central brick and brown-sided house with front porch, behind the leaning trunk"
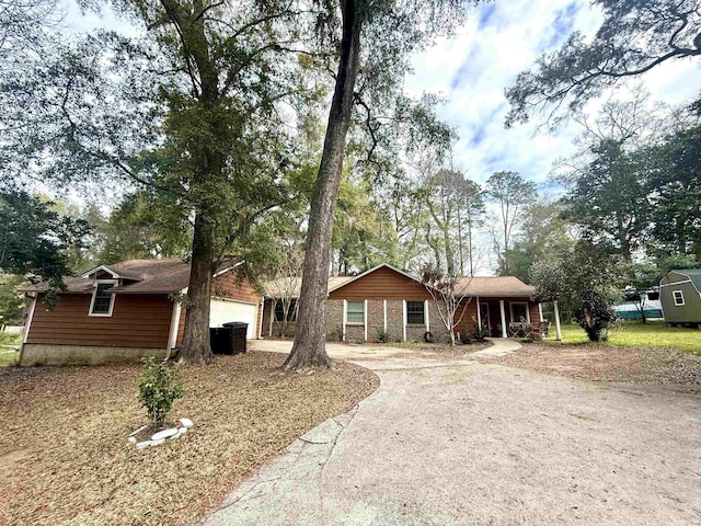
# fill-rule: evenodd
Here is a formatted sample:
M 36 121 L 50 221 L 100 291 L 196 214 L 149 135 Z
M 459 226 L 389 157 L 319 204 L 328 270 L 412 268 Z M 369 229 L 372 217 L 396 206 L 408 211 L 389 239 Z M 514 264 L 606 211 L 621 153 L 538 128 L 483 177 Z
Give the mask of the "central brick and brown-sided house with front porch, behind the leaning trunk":
M 263 336 L 281 335 L 283 298 L 292 302 L 285 335 L 294 335 L 294 302 L 299 297 L 300 285 L 301 278 L 291 287 L 289 279 L 266 284 Z M 460 279 L 456 291 L 463 298 L 457 319 L 464 309 L 457 332 L 472 333 L 481 325 L 487 335 L 506 338 L 512 323 L 542 321 L 536 289 L 517 277 L 466 277 Z M 435 341 L 448 335 L 438 308 L 421 279 L 387 263 L 357 276 L 329 278 L 326 339 L 398 342 L 422 340 L 427 332 Z

